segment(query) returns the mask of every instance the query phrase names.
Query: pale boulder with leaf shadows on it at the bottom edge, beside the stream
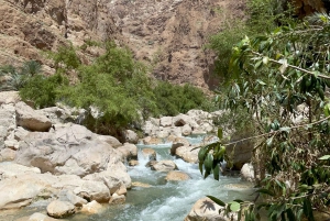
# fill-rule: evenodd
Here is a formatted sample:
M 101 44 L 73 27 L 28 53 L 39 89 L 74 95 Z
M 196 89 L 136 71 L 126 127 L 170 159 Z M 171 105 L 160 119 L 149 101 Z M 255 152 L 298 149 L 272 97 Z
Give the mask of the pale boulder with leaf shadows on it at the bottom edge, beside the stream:
M 235 221 L 237 214 L 229 214 L 229 218 L 219 210 L 223 209 L 221 206 L 215 203 L 209 198 L 199 199 L 191 208 L 185 221 Z

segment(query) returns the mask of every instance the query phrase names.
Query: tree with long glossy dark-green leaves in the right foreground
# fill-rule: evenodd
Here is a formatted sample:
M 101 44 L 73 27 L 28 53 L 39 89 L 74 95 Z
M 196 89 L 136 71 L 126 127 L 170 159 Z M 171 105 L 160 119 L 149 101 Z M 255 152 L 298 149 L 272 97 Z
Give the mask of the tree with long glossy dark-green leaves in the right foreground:
M 316 14 L 300 24 L 279 26 L 270 34 L 245 36 L 233 47 L 228 91 L 222 107 L 243 108 L 253 117 L 254 167 L 264 198 L 234 200 L 226 211 L 245 221 L 315 220 L 314 211 L 330 205 L 330 18 Z M 228 158 L 220 141 L 199 152 L 207 177 Z M 213 151 L 213 152 L 210 152 Z M 262 164 L 261 164 L 262 162 Z M 270 174 L 267 176 L 267 174 Z

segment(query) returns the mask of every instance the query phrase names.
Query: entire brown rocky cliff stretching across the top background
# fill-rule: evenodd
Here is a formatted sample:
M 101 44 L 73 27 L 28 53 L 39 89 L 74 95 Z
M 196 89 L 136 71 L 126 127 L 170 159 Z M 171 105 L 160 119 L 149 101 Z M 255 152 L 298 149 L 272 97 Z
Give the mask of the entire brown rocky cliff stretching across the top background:
M 26 59 L 52 64 L 41 51 L 72 42 L 116 40 L 128 44 L 157 79 L 218 86 L 209 35 L 229 16 L 243 18 L 246 0 L 0 0 L 0 64 Z M 297 0 L 301 15 L 321 11 L 322 0 Z M 84 52 L 87 58 L 94 51 Z

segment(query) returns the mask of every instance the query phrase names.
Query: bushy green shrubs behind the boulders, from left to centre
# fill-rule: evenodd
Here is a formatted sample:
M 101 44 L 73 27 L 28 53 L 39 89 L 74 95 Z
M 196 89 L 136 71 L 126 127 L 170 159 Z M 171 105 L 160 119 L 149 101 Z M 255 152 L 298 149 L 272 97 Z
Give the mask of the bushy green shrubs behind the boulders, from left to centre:
M 11 89 L 20 89 L 22 99 L 33 101 L 37 108 L 56 102 L 84 108 L 89 112 L 84 123 L 90 130 L 117 137 L 121 136 L 122 129 L 139 129 L 141 120 L 150 115 L 175 115 L 190 109 L 211 108 L 209 99 L 194 86 L 153 81 L 147 68 L 134 60 L 128 48 L 118 47 L 113 42 L 88 42 L 86 47 L 90 45 L 105 51 L 90 65 L 81 64 L 79 48 L 62 46 L 56 53 L 47 53 L 54 60 L 55 75 L 41 75 L 35 63 L 28 62 L 21 69 L 29 74 L 24 74 L 21 85 Z M 2 69 L 8 74 L 15 68 Z M 77 79 L 69 84 L 72 73 Z

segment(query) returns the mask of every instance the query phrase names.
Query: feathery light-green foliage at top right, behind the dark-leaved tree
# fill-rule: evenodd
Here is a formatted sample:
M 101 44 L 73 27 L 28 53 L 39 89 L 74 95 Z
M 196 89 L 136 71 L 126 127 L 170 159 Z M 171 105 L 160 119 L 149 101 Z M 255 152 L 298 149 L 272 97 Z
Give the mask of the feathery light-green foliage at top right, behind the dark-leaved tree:
M 245 18 L 230 18 L 229 12 L 218 10 L 223 18 L 221 31 L 210 37 L 209 48 L 217 53 L 215 73 L 220 77 L 228 76 L 229 60 L 232 46 L 245 35 L 256 36 L 260 33 L 274 30 L 278 24 L 292 22 L 289 16 L 293 9 L 284 1 L 274 0 L 249 0 L 246 3 Z

